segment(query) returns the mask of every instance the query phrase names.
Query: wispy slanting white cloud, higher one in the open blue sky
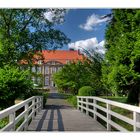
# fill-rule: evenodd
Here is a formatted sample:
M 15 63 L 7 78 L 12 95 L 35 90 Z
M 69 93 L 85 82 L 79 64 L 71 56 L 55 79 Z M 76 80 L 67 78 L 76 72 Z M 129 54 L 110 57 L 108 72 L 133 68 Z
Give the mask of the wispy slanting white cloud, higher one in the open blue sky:
M 86 23 L 79 25 L 79 27 L 86 31 L 92 31 L 93 27 L 100 25 L 101 23 L 106 22 L 109 19 L 109 17 L 92 14 L 87 18 Z

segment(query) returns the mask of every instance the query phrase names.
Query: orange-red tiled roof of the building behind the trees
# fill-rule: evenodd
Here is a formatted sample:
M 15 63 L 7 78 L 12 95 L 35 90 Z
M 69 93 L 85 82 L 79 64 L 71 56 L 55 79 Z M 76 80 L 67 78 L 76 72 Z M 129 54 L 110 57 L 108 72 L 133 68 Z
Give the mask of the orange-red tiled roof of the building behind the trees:
M 76 50 L 43 50 L 41 54 L 43 56 L 44 63 L 47 63 L 49 61 L 57 61 L 62 64 L 66 64 L 67 61 L 77 61 L 84 59 L 84 56 Z M 33 60 L 34 64 L 37 64 L 37 60 L 40 59 L 41 57 L 39 55 L 35 55 Z M 26 64 L 26 61 L 21 61 L 21 63 Z

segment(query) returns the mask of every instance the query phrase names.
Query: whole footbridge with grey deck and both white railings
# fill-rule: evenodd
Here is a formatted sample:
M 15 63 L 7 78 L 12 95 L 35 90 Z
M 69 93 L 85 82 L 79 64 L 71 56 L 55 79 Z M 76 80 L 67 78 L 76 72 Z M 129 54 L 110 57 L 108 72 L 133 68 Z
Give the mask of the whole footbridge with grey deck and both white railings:
M 77 109 L 73 109 L 61 104 L 60 100 L 50 98 L 43 108 L 43 97 L 33 96 L 0 111 L 0 119 L 8 120 L 1 131 L 128 131 L 116 119 L 130 125 L 131 131 L 140 131 L 140 107 L 98 97 L 78 96 Z M 113 109 L 115 107 L 127 110 L 130 115 L 117 113 Z

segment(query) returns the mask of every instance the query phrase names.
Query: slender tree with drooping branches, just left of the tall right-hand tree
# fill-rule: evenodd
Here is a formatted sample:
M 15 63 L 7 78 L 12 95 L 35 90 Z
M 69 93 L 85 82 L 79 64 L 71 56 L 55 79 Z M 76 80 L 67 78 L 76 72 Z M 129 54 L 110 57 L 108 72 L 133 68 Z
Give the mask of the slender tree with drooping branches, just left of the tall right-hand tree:
M 94 49 L 83 49 L 83 53 L 87 57 L 84 65 L 89 75 L 87 78 L 89 81 L 88 84 L 94 88 L 96 95 L 103 94 L 105 92 L 105 88 L 103 87 L 103 83 L 101 81 L 101 69 L 104 55 L 102 53 L 96 52 Z

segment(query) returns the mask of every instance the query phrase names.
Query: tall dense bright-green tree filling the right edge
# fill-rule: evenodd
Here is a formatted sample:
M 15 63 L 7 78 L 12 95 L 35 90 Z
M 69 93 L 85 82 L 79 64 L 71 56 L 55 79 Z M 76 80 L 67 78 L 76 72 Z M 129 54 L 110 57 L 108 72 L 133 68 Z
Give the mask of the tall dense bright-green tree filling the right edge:
M 116 96 L 126 94 L 129 102 L 138 103 L 140 10 L 115 9 L 112 16 L 105 36 L 107 51 L 102 67 L 103 82 Z

